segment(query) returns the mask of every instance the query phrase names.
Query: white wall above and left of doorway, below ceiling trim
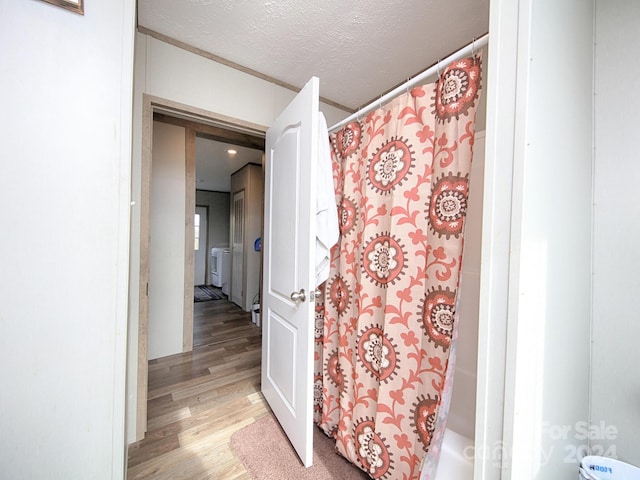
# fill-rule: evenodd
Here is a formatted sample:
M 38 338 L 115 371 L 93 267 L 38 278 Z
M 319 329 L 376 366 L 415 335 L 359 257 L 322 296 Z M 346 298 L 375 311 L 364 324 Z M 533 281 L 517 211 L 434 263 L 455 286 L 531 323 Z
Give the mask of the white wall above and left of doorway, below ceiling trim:
M 147 35 L 136 35 L 133 109 L 131 210 L 131 295 L 129 301 L 129 360 L 127 364 L 127 438 L 135 441 L 137 404 L 138 278 L 142 95 L 146 93 L 190 107 L 258 125 L 270 125 L 294 97 L 294 92 L 239 72 Z M 347 116 L 320 104 L 331 125 Z

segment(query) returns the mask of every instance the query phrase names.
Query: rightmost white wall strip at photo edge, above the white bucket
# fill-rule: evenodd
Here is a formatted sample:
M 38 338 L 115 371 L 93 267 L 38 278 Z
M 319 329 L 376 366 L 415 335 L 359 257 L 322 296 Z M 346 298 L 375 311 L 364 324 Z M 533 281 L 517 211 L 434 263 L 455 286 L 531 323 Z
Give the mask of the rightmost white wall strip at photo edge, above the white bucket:
M 639 2 L 596 1 L 591 443 L 638 466 L 639 25 Z

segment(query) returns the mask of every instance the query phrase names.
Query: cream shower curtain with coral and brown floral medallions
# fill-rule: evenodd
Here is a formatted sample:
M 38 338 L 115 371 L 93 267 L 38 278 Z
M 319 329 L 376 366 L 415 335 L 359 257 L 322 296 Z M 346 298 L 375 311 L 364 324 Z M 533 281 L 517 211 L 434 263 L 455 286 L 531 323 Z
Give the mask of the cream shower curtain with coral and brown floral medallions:
M 371 478 L 419 478 L 437 427 L 480 63 L 454 62 L 330 138 L 341 235 L 317 304 L 314 412 Z

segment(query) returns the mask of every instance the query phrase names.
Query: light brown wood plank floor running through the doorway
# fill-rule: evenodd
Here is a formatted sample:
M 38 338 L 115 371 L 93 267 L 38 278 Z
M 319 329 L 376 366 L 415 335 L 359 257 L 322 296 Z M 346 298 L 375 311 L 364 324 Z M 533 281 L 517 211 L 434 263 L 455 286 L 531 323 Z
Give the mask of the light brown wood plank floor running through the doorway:
M 260 329 L 226 300 L 194 309 L 193 351 L 149 362 L 148 427 L 127 478 L 250 480 L 229 440 L 270 412 L 260 393 Z

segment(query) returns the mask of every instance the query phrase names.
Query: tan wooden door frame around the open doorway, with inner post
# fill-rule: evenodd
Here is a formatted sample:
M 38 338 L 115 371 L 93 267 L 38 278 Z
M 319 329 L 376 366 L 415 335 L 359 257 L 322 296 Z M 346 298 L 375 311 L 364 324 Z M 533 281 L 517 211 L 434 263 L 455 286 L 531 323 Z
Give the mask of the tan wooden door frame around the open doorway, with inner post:
M 258 148 L 264 151 L 267 127 L 227 115 L 191 107 L 153 95 L 142 95 L 142 155 L 140 173 L 140 259 L 138 290 L 129 295 L 138 297 L 138 355 L 136 441 L 147 431 L 148 331 L 149 331 L 149 243 L 151 214 L 151 168 L 153 158 L 153 122 L 155 120 L 186 129 L 186 190 L 185 245 L 193 245 L 195 210 L 195 137 Z M 135 241 L 136 239 L 132 239 Z M 193 249 L 185 249 L 183 351 L 193 348 Z

